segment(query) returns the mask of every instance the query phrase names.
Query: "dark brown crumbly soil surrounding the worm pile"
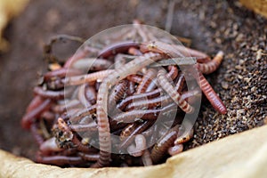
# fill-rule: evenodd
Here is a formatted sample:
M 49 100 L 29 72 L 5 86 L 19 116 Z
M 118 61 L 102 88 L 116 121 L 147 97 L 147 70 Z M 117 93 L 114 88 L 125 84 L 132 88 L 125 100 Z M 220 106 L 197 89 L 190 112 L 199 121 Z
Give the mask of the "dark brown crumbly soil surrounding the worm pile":
M 103 29 L 140 19 L 165 28 L 168 1 L 36 0 L 5 30 L 11 43 L 0 54 L 0 149 L 34 159 L 33 137 L 20 127 L 38 75 L 46 69 L 43 45 L 68 34 L 88 38 Z M 267 121 L 267 20 L 236 1 L 177 1 L 171 33 L 211 56 L 225 53 L 220 69 L 206 76 L 228 108 L 219 115 L 204 99 L 194 138 L 186 149 L 237 134 Z M 62 58 L 79 44 L 62 44 Z M 67 53 L 68 52 L 68 53 Z

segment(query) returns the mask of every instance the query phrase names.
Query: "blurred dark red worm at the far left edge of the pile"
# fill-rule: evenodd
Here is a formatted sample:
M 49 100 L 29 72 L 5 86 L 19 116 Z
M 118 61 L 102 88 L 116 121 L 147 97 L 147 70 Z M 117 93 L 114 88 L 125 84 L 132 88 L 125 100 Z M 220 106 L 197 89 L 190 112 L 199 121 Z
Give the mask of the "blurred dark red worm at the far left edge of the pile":
M 35 118 L 40 117 L 40 115 L 45 111 L 48 110 L 51 106 L 52 101 L 50 99 L 46 99 L 36 107 L 36 109 L 32 109 L 28 113 L 26 113 L 21 119 L 21 125 L 25 129 L 29 129 L 30 125 L 33 123 Z

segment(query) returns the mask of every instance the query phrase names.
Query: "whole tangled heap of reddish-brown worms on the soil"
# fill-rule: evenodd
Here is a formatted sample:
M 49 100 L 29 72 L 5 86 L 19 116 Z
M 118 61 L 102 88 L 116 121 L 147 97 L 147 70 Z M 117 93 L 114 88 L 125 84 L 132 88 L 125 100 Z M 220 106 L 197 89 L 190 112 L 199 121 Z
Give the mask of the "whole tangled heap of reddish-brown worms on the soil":
M 80 167 L 163 163 L 193 136 L 193 125 L 182 125 L 182 117 L 198 111 L 194 103 L 201 91 L 226 114 L 203 76 L 222 61 L 223 52 L 211 59 L 136 21 L 98 45 L 83 45 L 44 74 L 21 119 L 39 145 L 36 162 Z M 197 85 L 187 85 L 186 75 Z

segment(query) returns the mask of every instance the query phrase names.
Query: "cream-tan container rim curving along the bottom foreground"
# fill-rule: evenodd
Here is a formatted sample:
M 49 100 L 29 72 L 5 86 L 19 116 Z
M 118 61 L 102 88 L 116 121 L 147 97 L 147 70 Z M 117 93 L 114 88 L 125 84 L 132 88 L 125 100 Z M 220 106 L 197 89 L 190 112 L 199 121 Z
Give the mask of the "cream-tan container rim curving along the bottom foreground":
M 147 167 L 60 168 L 36 164 L 0 150 L 0 177 L 266 177 L 267 125 Z

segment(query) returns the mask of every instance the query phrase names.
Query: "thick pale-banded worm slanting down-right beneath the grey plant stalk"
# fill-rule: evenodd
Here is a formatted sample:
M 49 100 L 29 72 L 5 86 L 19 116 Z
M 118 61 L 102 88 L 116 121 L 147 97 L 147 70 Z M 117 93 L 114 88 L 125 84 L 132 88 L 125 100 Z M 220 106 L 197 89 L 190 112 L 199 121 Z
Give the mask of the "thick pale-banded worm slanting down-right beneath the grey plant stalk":
M 177 93 L 174 86 L 166 78 L 166 72 L 163 69 L 158 71 L 158 84 L 170 95 L 172 100 L 186 113 L 192 113 L 193 107 L 187 101 L 182 100 L 180 93 Z

